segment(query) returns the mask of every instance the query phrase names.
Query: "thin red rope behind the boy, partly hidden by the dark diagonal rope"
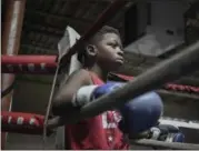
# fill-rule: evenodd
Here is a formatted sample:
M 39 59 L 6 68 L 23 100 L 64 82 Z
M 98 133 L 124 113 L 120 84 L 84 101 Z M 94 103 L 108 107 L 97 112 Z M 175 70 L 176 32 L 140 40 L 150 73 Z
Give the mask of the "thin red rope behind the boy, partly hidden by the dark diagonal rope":
M 110 77 L 110 80 L 115 80 L 116 78 L 120 78 L 121 80 L 132 80 L 133 77 L 129 76 L 123 76 L 123 74 L 113 74 L 112 78 Z M 183 85 L 183 84 L 173 84 L 173 83 L 168 83 L 163 85 L 163 89 L 166 90 L 171 90 L 171 91 L 182 91 L 182 92 L 189 92 L 189 93 L 199 93 L 199 88 L 198 87 L 192 87 L 192 85 Z

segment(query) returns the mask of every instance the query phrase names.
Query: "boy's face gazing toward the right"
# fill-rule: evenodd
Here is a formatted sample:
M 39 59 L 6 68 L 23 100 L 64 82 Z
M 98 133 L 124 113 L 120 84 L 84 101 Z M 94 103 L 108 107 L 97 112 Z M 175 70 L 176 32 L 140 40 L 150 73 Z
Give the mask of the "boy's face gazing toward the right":
M 96 46 L 98 49 L 97 61 L 105 70 L 115 71 L 123 64 L 123 50 L 119 36 L 106 33 Z

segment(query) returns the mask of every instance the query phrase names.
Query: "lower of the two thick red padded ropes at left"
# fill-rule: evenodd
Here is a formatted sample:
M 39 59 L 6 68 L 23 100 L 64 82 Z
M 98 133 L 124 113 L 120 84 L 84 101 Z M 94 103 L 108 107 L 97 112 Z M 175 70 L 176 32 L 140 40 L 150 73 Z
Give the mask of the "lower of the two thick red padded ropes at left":
M 32 113 L 1 111 L 1 131 L 42 134 L 44 117 Z M 53 131 L 49 130 L 48 134 Z

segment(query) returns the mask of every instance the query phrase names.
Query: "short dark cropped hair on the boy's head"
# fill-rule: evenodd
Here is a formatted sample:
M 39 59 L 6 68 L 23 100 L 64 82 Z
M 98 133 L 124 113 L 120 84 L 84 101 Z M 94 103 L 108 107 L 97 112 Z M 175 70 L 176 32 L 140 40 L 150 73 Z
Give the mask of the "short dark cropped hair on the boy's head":
M 117 36 L 120 37 L 120 33 L 117 29 L 109 27 L 109 26 L 105 26 L 93 37 L 91 37 L 88 41 L 83 43 L 84 48 L 87 44 L 96 44 L 96 42 L 100 41 L 106 33 L 116 33 Z M 84 63 L 83 61 L 84 57 L 86 57 L 84 49 L 81 52 L 78 52 L 78 60 L 81 63 Z

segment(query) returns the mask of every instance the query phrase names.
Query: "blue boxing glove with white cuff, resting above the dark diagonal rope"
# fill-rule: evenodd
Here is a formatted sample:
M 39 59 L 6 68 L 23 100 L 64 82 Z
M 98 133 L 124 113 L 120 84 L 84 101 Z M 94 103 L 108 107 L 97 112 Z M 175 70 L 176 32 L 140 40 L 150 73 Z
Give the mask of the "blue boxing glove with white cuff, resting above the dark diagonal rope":
M 110 93 L 113 90 L 122 87 L 125 83 L 108 82 L 102 85 L 84 85 L 81 87 L 73 95 L 72 104 L 74 107 L 82 107 L 103 94 Z

